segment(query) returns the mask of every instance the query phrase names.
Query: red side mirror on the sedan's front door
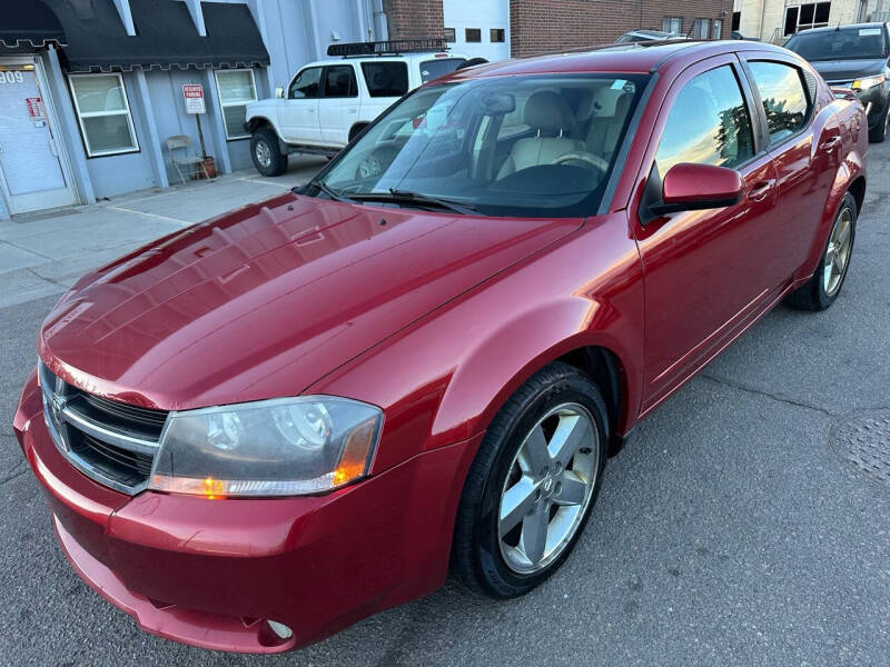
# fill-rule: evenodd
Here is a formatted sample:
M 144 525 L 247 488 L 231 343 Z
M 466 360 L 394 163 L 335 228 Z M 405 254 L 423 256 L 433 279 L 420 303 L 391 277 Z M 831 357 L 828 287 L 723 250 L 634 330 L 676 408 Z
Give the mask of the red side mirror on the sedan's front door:
M 738 203 L 743 192 L 744 180 L 734 169 L 681 162 L 664 175 L 661 201 L 649 208 L 656 216 L 723 208 Z

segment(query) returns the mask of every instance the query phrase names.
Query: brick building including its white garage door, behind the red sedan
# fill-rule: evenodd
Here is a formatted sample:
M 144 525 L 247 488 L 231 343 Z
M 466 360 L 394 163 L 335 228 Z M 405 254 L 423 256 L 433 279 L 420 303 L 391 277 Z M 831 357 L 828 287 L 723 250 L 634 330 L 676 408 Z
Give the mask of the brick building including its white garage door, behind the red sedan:
M 490 57 L 611 43 L 636 29 L 728 38 L 733 0 L 383 0 L 390 39 L 445 38 Z

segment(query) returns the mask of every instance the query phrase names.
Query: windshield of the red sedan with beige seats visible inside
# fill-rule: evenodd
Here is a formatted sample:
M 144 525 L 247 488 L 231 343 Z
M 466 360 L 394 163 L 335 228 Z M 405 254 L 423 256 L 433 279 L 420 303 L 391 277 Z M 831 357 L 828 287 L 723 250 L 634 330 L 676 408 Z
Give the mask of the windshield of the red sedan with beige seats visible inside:
M 398 197 L 397 205 L 418 208 L 438 200 L 484 216 L 590 216 L 645 80 L 547 74 L 425 86 L 387 110 L 316 183 L 328 196 Z

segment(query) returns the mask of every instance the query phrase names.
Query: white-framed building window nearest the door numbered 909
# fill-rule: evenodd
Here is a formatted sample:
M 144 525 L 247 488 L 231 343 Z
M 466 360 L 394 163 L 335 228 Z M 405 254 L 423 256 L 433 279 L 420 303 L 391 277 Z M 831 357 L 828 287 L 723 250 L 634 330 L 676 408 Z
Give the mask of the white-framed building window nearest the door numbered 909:
M 88 157 L 139 150 L 120 74 L 69 74 L 68 82 Z

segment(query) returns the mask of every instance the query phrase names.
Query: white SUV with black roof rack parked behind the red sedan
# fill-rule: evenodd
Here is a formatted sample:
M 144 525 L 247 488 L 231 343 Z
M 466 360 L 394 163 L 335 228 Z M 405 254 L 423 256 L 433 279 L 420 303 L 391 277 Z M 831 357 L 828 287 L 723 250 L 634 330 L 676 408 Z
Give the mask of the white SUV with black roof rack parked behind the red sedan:
M 334 155 L 408 90 L 466 61 L 444 49 L 429 50 L 429 43 L 332 44 L 328 56 L 342 56 L 339 60 L 310 62 L 286 91 L 278 88 L 274 99 L 247 106 L 254 166 L 264 176 L 278 176 L 290 152 Z M 444 47 L 438 40 L 432 43 Z M 427 49 L 405 52 L 412 44 Z

